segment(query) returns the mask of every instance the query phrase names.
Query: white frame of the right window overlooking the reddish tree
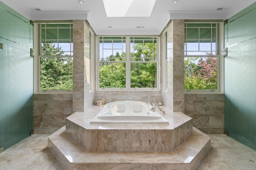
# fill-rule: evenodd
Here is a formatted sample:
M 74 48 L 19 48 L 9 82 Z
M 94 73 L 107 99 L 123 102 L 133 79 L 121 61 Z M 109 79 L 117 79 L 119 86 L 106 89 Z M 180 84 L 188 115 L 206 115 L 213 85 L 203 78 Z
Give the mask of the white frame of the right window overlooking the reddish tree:
M 185 20 L 184 25 L 186 23 L 216 23 L 216 55 L 185 55 L 186 54 L 186 48 L 184 48 L 184 59 L 186 57 L 217 57 L 217 89 L 185 89 L 184 92 L 185 94 L 195 94 L 195 93 L 223 93 L 223 75 L 224 75 L 224 68 L 223 68 L 223 63 L 224 63 L 224 55 L 223 55 L 223 49 L 222 46 L 224 44 L 224 29 L 223 29 L 223 21 L 217 20 L 217 21 L 211 21 L 211 20 L 206 20 L 206 21 L 193 21 L 193 20 Z M 184 29 L 185 30 L 185 29 Z M 185 32 L 185 37 L 184 37 L 184 46 L 186 43 L 186 32 Z M 199 38 L 198 38 L 199 39 Z M 211 47 L 212 49 L 212 47 Z

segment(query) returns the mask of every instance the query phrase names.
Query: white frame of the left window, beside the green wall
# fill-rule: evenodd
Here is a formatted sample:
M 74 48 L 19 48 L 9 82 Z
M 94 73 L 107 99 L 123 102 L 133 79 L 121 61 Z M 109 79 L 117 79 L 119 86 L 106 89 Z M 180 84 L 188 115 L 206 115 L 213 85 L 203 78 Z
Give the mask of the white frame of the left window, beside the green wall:
M 41 25 L 42 24 L 67 24 L 67 23 L 69 23 L 69 24 L 72 24 L 72 21 L 70 21 L 70 20 L 66 20 L 66 21 L 46 21 L 46 22 L 40 22 L 40 21 L 38 21 L 38 23 L 37 23 L 37 27 L 38 27 L 38 49 L 36 50 L 36 51 L 38 51 L 38 56 L 37 56 L 37 75 L 38 75 L 38 77 L 37 77 L 37 84 L 36 84 L 36 87 L 37 87 L 37 91 L 36 91 L 36 93 L 53 93 L 53 94 L 55 94 L 55 93 L 57 93 L 57 94 L 72 94 L 72 92 L 73 92 L 73 89 L 72 90 L 42 90 L 41 89 L 41 65 L 40 65 L 40 60 L 41 60 L 41 58 L 50 58 L 50 57 L 56 57 L 56 58 L 66 58 L 66 57 L 69 57 L 69 58 L 72 58 L 73 59 L 73 55 L 71 55 L 71 54 L 73 54 L 73 47 L 72 47 L 72 37 L 71 37 L 71 35 L 72 34 L 70 34 L 70 55 L 42 55 L 42 27 L 41 27 Z M 60 27 L 58 27 L 58 28 L 60 28 Z M 65 27 L 64 27 L 65 28 Z M 73 30 L 73 27 L 67 27 L 67 28 L 69 28 L 69 29 L 71 29 L 72 28 L 72 30 Z M 70 30 L 71 31 L 71 30 Z M 71 33 L 71 32 L 70 32 Z M 59 40 L 59 39 L 58 39 Z

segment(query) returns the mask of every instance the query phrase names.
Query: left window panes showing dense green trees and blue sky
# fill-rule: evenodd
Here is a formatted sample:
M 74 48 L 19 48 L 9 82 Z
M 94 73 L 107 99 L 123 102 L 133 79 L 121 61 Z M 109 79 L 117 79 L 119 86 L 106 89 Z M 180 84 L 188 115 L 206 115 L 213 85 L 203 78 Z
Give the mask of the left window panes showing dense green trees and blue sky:
M 38 91 L 73 90 L 73 24 L 40 24 Z

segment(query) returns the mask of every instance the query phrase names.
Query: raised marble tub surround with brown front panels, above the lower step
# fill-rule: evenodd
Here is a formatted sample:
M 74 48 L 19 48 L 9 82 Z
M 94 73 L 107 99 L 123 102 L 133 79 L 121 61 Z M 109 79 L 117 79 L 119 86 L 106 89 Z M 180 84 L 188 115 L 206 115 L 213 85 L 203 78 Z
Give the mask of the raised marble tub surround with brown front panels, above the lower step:
M 86 113 L 76 112 L 66 118 L 66 135 L 86 151 L 170 152 L 192 134 L 192 118 L 171 111 L 162 113 L 169 125 L 90 124 L 99 108 L 93 106 Z

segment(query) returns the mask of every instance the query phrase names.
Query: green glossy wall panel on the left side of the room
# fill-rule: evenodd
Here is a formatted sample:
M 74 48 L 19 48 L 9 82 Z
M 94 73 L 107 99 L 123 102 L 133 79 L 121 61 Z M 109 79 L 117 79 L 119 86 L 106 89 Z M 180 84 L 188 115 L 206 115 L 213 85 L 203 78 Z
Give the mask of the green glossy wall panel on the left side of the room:
M 4 150 L 33 130 L 33 26 L 0 2 L 0 147 Z

